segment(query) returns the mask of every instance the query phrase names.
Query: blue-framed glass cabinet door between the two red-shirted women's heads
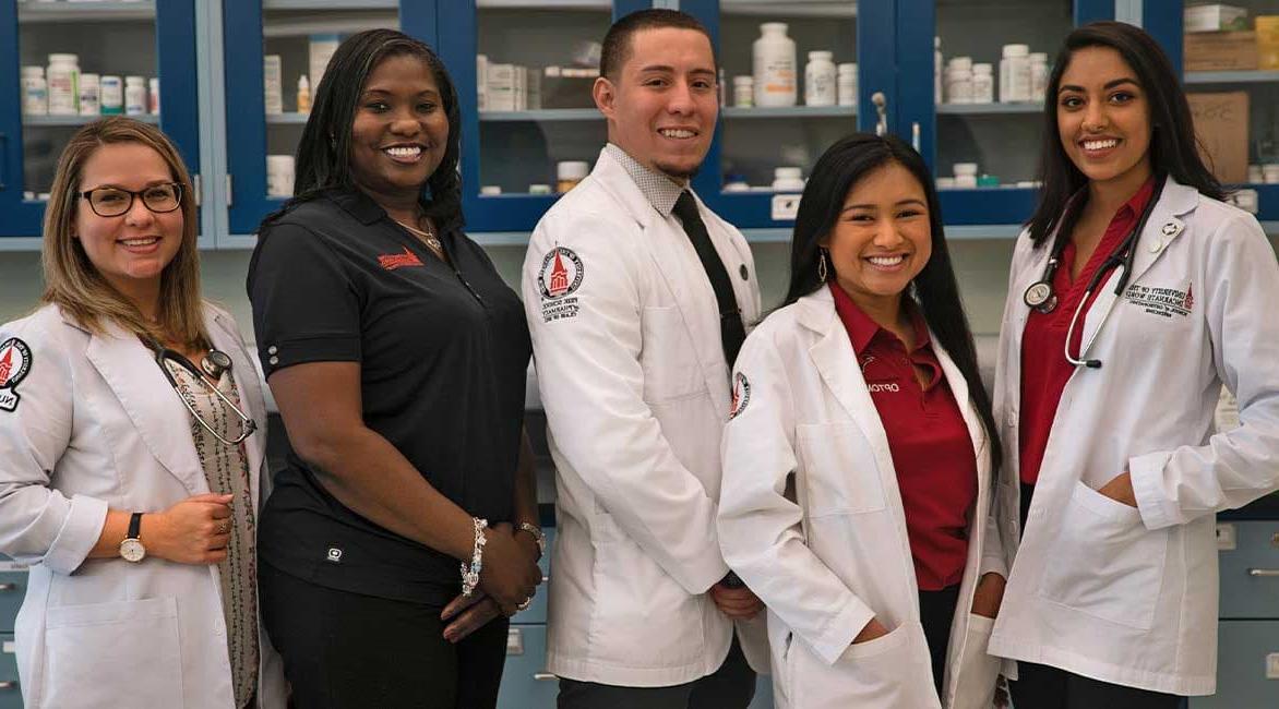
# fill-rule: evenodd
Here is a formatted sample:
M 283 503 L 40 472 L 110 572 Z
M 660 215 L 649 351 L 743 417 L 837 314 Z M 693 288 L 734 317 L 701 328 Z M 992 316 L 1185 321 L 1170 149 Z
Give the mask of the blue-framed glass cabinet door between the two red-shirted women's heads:
M 948 225 L 1019 225 L 1033 210 L 1045 84 L 1065 36 L 1110 0 L 899 0 L 907 109 Z M 931 107 L 931 110 L 930 110 Z

